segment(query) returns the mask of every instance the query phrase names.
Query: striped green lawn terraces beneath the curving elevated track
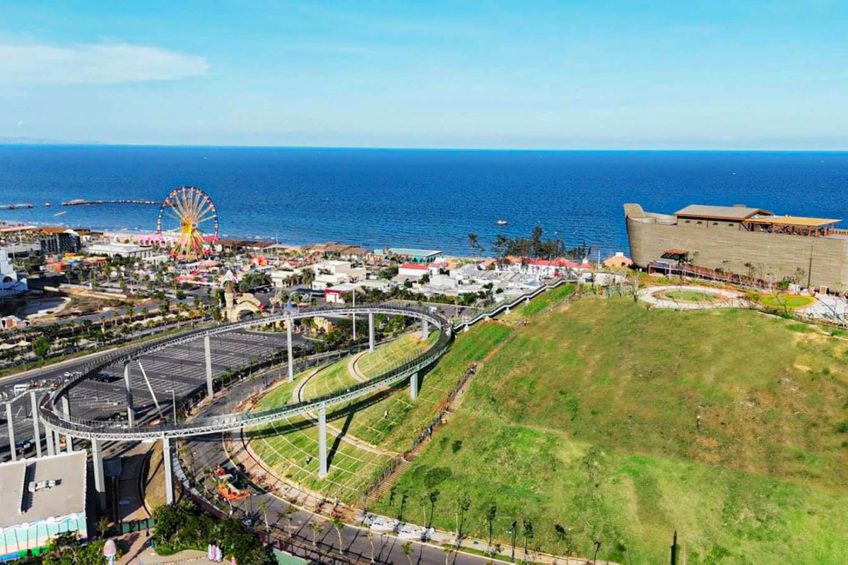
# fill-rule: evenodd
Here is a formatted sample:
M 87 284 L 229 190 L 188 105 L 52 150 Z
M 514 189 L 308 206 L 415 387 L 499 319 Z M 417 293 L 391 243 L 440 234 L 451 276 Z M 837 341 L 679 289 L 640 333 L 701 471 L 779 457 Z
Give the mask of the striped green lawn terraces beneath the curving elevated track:
M 409 399 L 408 383 L 403 383 L 375 404 L 356 411 L 342 411 L 330 421 L 330 425 L 341 429 L 347 427 L 347 435 L 379 445 L 390 451 L 402 452 L 413 438 L 432 420 L 444 398 L 464 374 L 468 365 L 480 360 L 501 343 L 509 328 L 499 324 L 483 324 L 463 334 L 442 362 L 422 380 L 418 400 Z M 359 368 L 366 376 L 374 376 L 406 355 L 408 351 L 421 351 L 437 337 L 432 333 L 426 342 L 417 335 L 408 334 L 366 353 L 359 360 Z M 305 396 L 324 393 L 349 382 L 353 377 L 347 373 L 349 359 L 342 359 L 323 368 L 312 377 L 304 389 Z M 311 372 L 311 371 L 310 371 Z M 272 389 L 260 400 L 257 410 L 290 402 L 294 386 L 306 375 L 302 373 L 295 383 L 285 383 Z M 254 428 L 247 432 L 250 445 L 260 458 L 270 465 L 278 476 L 317 490 L 326 496 L 338 497 L 357 503 L 364 488 L 384 468 L 391 456 L 375 454 L 356 445 L 338 443 L 337 455 L 330 465 L 330 474 L 319 480 L 318 441 L 315 426 L 303 427 L 302 421 L 278 423 Z M 333 432 L 328 433 L 328 446 L 336 441 Z

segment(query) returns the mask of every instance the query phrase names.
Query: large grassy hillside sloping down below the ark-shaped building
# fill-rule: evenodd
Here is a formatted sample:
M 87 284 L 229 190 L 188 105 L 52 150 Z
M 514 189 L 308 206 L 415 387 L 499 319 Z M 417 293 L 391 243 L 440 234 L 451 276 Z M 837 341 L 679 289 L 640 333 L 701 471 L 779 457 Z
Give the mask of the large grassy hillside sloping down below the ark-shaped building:
M 426 523 L 438 491 L 435 525 L 455 529 L 467 497 L 465 530 L 486 538 L 496 506 L 505 545 L 527 520 L 531 547 L 585 556 L 599 540 L 625 563 L 665 562 L 675 528 L 688 563 L 848 562 L 845 340 L 583 299 L 531 303 L 454 348 L 495 327 L 461 408 L 375 510 L 405 499 Z

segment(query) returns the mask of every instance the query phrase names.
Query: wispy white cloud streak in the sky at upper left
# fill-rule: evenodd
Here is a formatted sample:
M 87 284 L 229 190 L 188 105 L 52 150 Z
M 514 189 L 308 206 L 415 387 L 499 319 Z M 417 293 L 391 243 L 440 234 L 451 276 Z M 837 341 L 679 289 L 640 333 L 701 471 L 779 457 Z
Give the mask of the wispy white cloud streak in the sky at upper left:
M 127 43 L 56 47 L 0 43 L 0 83 L 108 84 L 206 74 L 205 57 Z

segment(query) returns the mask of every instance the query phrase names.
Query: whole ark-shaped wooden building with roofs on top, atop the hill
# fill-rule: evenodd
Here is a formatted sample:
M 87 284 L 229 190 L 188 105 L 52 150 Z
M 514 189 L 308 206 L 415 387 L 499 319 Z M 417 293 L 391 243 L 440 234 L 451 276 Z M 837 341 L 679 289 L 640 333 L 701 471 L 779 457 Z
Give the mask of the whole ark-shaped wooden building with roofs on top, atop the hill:
M 848 292 L 848 230 L 840 220 L 777 216 L 761 208 L 693 204 L 674 214 L 625 204 L 635 265 L 685 261 L 764 281 Z

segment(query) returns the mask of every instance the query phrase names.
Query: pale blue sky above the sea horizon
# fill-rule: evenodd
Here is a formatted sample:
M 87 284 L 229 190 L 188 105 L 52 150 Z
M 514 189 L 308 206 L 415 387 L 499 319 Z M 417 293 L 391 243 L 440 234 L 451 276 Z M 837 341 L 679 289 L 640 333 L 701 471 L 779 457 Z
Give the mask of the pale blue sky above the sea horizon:
M 0 137 L 848 149 L 848 2 L 0 4 Z

